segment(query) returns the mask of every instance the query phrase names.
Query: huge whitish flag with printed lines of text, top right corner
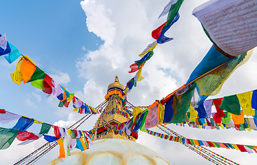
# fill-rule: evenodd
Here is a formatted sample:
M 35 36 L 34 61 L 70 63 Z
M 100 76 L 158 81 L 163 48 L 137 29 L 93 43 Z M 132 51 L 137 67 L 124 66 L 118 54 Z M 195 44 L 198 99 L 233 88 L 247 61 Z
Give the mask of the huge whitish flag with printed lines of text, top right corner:
M 209 39 L 232 56 L 257 46 L 257 3 L 245 0 L 208 1 L 194 9 Z

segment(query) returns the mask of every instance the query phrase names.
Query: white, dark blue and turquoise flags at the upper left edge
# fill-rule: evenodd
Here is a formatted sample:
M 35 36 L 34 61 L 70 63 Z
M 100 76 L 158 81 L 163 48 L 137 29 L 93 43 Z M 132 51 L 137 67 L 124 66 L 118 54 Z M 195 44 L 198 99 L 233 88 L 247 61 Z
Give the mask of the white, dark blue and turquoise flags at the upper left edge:
M 8 54 L 7 56 L 4 56 L 8 63 L 16 61 L 17 58 L 22 55 L 14 45 L 7 41 L 6 34 L 3 34 L 3 36 L 0 34 L 0 45 L 2 46 L 0 47 L 0 56 Z

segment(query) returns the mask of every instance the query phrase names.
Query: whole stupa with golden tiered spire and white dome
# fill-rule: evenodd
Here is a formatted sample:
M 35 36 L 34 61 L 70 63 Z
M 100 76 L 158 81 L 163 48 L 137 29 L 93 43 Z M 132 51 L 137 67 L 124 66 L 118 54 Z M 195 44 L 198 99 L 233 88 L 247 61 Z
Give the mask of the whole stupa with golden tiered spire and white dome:
M 105 124 L 112 126 L 121 124 L 129 120 L 129 117 L 116 113 L 114 109 L 121 107 L 121 97 L 123 85 L 119 83 L 118 76 L 107 88 L 105 100 L 107 106 L 96 121 L 94 129 L 97 128 L 94 144 L 85 151 L 75 151 L 65 159 L 54 159 L 50 165 L 54 164 L 77 164 L 77 165 L 168 165 L 158 153 L 149 148 L 136 143 L 137 135 L 116 134 L 114 131 L 105 128 Z M 108 114 L 108 115 L 105 115 Z

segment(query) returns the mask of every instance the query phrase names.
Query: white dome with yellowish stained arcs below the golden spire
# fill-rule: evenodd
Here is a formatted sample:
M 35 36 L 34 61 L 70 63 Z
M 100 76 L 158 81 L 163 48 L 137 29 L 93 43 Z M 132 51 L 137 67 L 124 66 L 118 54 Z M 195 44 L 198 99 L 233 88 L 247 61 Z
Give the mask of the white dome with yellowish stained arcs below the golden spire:
M 168 165 L 163 157 L 149 148 L 121 139 L 96 140 L 88 150 L 71 153 L 63 161 L 54 159 L 50 165 Z

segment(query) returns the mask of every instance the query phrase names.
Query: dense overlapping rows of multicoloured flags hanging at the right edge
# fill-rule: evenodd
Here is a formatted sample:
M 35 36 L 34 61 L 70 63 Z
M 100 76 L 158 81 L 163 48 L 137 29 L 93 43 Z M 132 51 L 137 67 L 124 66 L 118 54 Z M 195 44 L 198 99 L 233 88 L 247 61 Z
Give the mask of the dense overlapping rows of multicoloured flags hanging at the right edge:
M 213 106 L 214 105 L 214 106 Z M 240 109 L 243 109 L 241 111 Z M 187 111 L 189 120 L 176 123 L 177 126 L 185 126 L 198 129 L 231 129 L 237 131 L 257 130 L 257 90 L 247 91 L 241 94 L 225 96 L 205 100 L 198 111 L 190 105 Z M 212 111 L 214 110 L 214 111 Z M 244 115 L 249 116 L 245 118 Z

